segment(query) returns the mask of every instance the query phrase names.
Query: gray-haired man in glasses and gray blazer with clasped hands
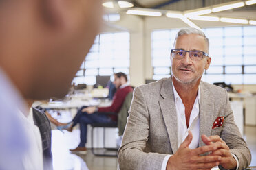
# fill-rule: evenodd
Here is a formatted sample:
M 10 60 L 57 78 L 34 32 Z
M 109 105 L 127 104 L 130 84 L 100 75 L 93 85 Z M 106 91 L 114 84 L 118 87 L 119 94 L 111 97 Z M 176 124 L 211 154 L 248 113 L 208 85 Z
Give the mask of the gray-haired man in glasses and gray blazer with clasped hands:
M 208 38 L 181 29 L 173 47 L 171 77 L 134 90 L 120 169 L 244 169 L 251 155 L 228 94 L 201 81 L 211 63 Z

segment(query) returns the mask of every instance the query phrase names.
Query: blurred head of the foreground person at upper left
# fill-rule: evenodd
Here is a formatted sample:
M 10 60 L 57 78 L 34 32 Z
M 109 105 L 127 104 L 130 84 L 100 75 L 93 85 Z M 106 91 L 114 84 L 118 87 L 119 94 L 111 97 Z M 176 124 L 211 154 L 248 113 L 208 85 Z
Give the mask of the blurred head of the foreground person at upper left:
M 0 1 L 0 68 L 23 97 L 63 97 L 98 33 L 99 0 Z

